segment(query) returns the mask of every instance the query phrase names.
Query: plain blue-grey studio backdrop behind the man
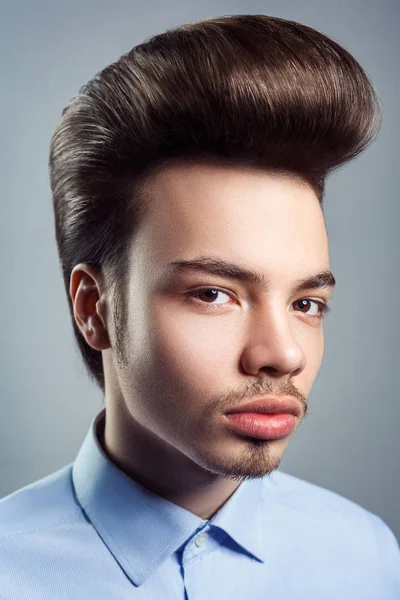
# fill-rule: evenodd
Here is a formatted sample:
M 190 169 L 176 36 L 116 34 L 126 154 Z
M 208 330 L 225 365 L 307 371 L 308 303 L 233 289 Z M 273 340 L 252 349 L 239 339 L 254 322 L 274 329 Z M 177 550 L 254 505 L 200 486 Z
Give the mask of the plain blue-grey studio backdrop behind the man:
M 400 538 L 400 4 L 10 0 L 0 9 L 0 496 L 72 462 L 102 408 L 75 347 L 54 237 L 47 160 L 63 107 L 97 71 L 167 27 L 263 13 L 344 45 L 370 74 L 384 112 L 378 140 L 328 179 L 337 289 L 310 416 L 280 468 L 378 514 Z

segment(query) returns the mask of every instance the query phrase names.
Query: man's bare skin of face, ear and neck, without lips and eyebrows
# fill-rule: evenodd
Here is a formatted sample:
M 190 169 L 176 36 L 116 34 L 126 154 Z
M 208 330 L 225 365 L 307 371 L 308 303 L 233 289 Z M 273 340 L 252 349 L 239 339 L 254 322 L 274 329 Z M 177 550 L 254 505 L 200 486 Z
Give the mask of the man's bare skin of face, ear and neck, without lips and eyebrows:
M 307 414 L 324 352 L 314 301 L 328 303 L 332 290 L 291 288 L 330 270 L 327 232 L 314 191 L 289 176 L 167 164 L 147 194 L 123 314 L 115 322 L 104 273 L 79 264 L 74 316 L 103 355 L 104 451 L 135 481 L 209 519 L 242 481 L 278 468 Z M 167 275 L 168 263 L 198 256 L 257 271 L 269 289 L 205 272 Z M 188 296 L 199 287 L 209 291 Z M 228 427 L 228 410 L 265 395 L 298 401 L 289 435 L 262 440 Z

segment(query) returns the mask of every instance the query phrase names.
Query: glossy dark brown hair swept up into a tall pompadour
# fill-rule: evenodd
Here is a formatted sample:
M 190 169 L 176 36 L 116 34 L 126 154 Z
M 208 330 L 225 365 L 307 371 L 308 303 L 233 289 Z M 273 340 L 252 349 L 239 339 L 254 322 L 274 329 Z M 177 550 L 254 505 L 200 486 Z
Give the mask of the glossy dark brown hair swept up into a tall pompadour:
M 71 271 L 81 262 L 101 269 L 119 297 L 158 165 L 205 159 L 300 176 L 322 207 L 328 173 L 364 150 L 380 123 L 370 79 L 346 49 L 267 15 L 169 29 L 84 85 L 62 113 L 49 166 L 74 333 L 101 390 L 102 353 L 75 322 Z

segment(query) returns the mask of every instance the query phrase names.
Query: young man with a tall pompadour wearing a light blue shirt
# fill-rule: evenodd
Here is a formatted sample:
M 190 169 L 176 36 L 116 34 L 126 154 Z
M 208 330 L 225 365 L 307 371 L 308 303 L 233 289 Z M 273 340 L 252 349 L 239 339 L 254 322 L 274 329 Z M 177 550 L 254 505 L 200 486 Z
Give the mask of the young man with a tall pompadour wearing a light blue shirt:
M 400 598 L 388 526 L 278 470 L 335 284 L 325 178 L 379 122 L 345 49 L 264 15 L 155 36 L 71 101 L 56 235 L 105 408 L 0 502 L 2 599 Z

